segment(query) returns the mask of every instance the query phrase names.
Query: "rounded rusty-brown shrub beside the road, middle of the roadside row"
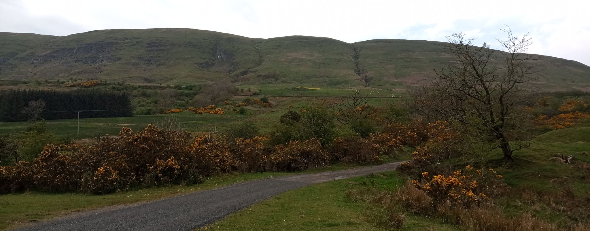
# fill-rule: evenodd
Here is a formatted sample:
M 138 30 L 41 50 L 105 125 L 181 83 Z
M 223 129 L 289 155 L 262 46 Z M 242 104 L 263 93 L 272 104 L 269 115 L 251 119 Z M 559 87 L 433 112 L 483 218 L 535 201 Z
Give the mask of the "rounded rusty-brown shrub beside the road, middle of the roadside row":
M 330 157 L 322 149 L 317 138 L 289 142 L 286 146 L 279 145 L 276 153 L 265 157 L 267 169 L 276 171 L 303 171 L 326 166 Z

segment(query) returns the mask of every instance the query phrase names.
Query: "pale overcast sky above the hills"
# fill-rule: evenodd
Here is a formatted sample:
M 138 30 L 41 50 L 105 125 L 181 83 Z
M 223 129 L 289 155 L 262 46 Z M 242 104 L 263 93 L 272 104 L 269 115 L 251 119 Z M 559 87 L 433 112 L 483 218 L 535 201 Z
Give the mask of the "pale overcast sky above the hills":
M 251 38 L 287 35 L 345 42 L 446 41 L 465 32 L 499 48 L 509 25 L 529 52 L 590 65 L 590 1 L 65 1 L 0 0 L 0 31 L 70 35 L 96 29 L 181 27 Z

